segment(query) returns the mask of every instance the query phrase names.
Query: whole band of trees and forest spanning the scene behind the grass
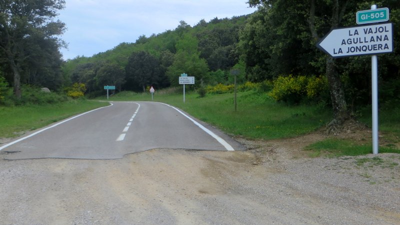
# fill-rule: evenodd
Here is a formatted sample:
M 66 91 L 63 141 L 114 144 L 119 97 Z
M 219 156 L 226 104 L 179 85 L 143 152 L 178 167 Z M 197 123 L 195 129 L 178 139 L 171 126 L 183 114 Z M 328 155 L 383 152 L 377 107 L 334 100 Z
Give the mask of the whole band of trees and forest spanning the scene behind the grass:
M 315 43 L 332 28 L 356 25 L 356 11 L 369 9 L 373 3 L 390 9 L 394 30 L 394 52 L 378 57 L 380 98 L 398 101 L 398 0 L 249 0 L 249 6 L 257 7 L 250 15 L 201 19 L 193 26 L 182 20 L 173 30 L 141 35 L 91 57 L 66 61 L 61 60 L 63 43 L 58 38 L 64 24 L 53 20 L 63 0 L 0 0 L 0 80 L 11 84 L 15 94 L 20 92 L 18 82 L 52 90 L 83 83 L 86 95 L 92 97 L 103 94 L 104 85 L 115 85 L 117 91 L 177 86 L 183 72 L 195 76 L 194 87 L 229 84 L 229 71 L 239 68 L 239 82 L 279 77 L 318 80 L 310 83 L 320 85 L 327 94 L 319 94 L 317 100 L 331 104 L 340 121 L 370 101 L 370 57 L 333 59 Z M 298 96 L 306 95 L 305 89 L 297 91 L 291 93 L 297 95 L 295 103 L 301 99 Z

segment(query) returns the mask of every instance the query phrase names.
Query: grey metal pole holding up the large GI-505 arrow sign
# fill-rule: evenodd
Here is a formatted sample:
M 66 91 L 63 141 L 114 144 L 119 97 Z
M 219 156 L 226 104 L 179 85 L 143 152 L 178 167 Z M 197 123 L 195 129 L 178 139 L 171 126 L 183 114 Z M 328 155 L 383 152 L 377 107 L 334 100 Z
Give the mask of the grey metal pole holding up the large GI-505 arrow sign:
M 376 5 L 371 5 L 376 9 Z M 377 154 L 379 148 L 378 140 L 378 57 L 371 56 L 371 78 L 372 78 L 372 153 Z

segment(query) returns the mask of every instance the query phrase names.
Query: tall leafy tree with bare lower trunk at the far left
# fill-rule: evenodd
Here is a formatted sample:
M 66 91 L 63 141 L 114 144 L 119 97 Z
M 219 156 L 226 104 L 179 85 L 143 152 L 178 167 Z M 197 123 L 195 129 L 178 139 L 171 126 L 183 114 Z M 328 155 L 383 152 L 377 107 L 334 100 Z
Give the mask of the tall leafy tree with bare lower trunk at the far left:
M 21 97 L 21 72 L 33 55 L 26 49 L 33 37 L 62 42 L 54 36 L 64 31 L 64 23 L 54 17 L 64 7 L 64 0 L 0 0 L 0 56 L 13 73 L 14 95 Z

